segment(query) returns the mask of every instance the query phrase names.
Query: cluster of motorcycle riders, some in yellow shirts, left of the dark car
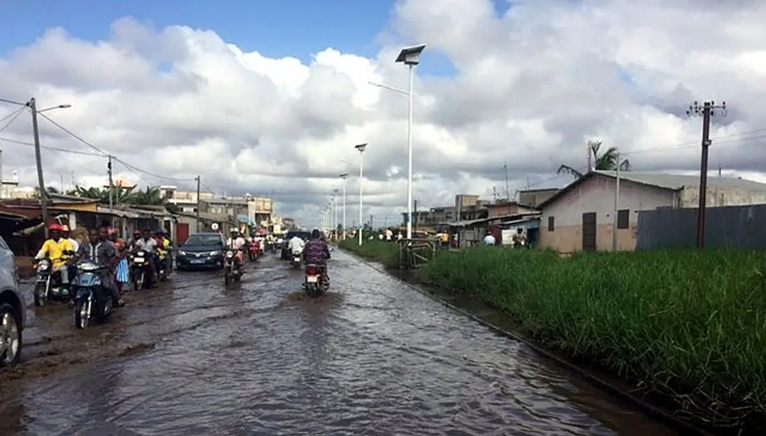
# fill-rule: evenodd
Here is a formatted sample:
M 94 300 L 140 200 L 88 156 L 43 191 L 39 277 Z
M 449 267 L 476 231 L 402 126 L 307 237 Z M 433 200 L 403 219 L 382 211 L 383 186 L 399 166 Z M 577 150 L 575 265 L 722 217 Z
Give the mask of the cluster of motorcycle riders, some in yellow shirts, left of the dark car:
M 152 255 L 152 274 L 159 271 L 159 259 L 164 258 L 166 271 L 172 269 L 172 241 L 164 230 L 136 230 L 127 240 L 119 237 L 116 229 L 100 226 L 90 229 L 87 239 L 78 241 L 68 226 L 52 224 L 48 239 L 43 243 L 35 260 L 51 259 L 51 268 L 61 275 L 61 285 L 70 282 L 70 266 L 83 260 L 103 265 L 102 283 L 106 284 L 116 306 L 123 306 L 123 291 L 130 281 L 129 255 L 143 249 Z

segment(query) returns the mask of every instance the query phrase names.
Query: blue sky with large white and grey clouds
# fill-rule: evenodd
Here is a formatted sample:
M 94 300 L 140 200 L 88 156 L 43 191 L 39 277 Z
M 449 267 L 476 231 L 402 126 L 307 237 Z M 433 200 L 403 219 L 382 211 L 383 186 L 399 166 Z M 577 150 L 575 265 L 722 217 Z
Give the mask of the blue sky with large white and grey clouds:
M 367 142 L 363 215 L 382 225 L 406 210 L 408 105 L 369 82 L 407 87 L 401 47 L 427 44 L 413 187 L 435 207 L 504 194 L 503 164 L 511 195 L 566 184 L 558 165 L 584 168 L 592 139 L 635 171 L 699 174 L 701 120 L 685 111 L 706 99 L 728 103 L 711 170 L 766 181 L 764 22 L 756 0 L 0 0 L 0 98 L 71 105 L 41 116 L 49 185 L 103 184 L 108 153 L 117 177 L 191 190 L 200 174 L 305 226 L 346 172 L 358 216 Z M 17 109 L 0 104 L 3 174 L 32 185 Z

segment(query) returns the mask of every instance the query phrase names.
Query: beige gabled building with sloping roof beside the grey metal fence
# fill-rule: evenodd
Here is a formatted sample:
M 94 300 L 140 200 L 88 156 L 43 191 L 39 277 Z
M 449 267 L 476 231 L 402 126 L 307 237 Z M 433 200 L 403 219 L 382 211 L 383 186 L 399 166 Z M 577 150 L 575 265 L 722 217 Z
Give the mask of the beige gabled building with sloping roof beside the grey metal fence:
M 614 171 L 591 171 L 542 202 L 540 246 L 558 252 L 611 249 L 615 182 Z M 641 210 L 697 207 L 698 202 L 697 176 L 621 173 L 617 249 L 636 248 Z M 766 184 L 725 177 L 708 179 L 708 206 L 760 203 L 766 203 Z

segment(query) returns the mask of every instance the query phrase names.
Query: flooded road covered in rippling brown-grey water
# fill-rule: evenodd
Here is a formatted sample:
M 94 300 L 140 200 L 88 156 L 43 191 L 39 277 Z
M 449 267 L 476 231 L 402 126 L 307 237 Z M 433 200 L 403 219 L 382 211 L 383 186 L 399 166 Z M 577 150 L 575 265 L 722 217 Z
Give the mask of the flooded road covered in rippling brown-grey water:
M 676 434 L 521 343 L 334 252 L 332 293 L 270 255 L 241 285 L 176 272 L 76 330 L 29 309 L 0 434 Z

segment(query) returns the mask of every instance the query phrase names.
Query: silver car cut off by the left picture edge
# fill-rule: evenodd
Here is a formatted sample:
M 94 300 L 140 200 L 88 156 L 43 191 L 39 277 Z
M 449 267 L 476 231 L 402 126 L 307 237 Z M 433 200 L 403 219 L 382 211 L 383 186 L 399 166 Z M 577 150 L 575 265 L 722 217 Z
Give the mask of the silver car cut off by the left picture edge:
M 21 330 L 26 320 L 26 304 L 18 290 L 14 255 L 0 237 L 0 366 L 18 363 Z

